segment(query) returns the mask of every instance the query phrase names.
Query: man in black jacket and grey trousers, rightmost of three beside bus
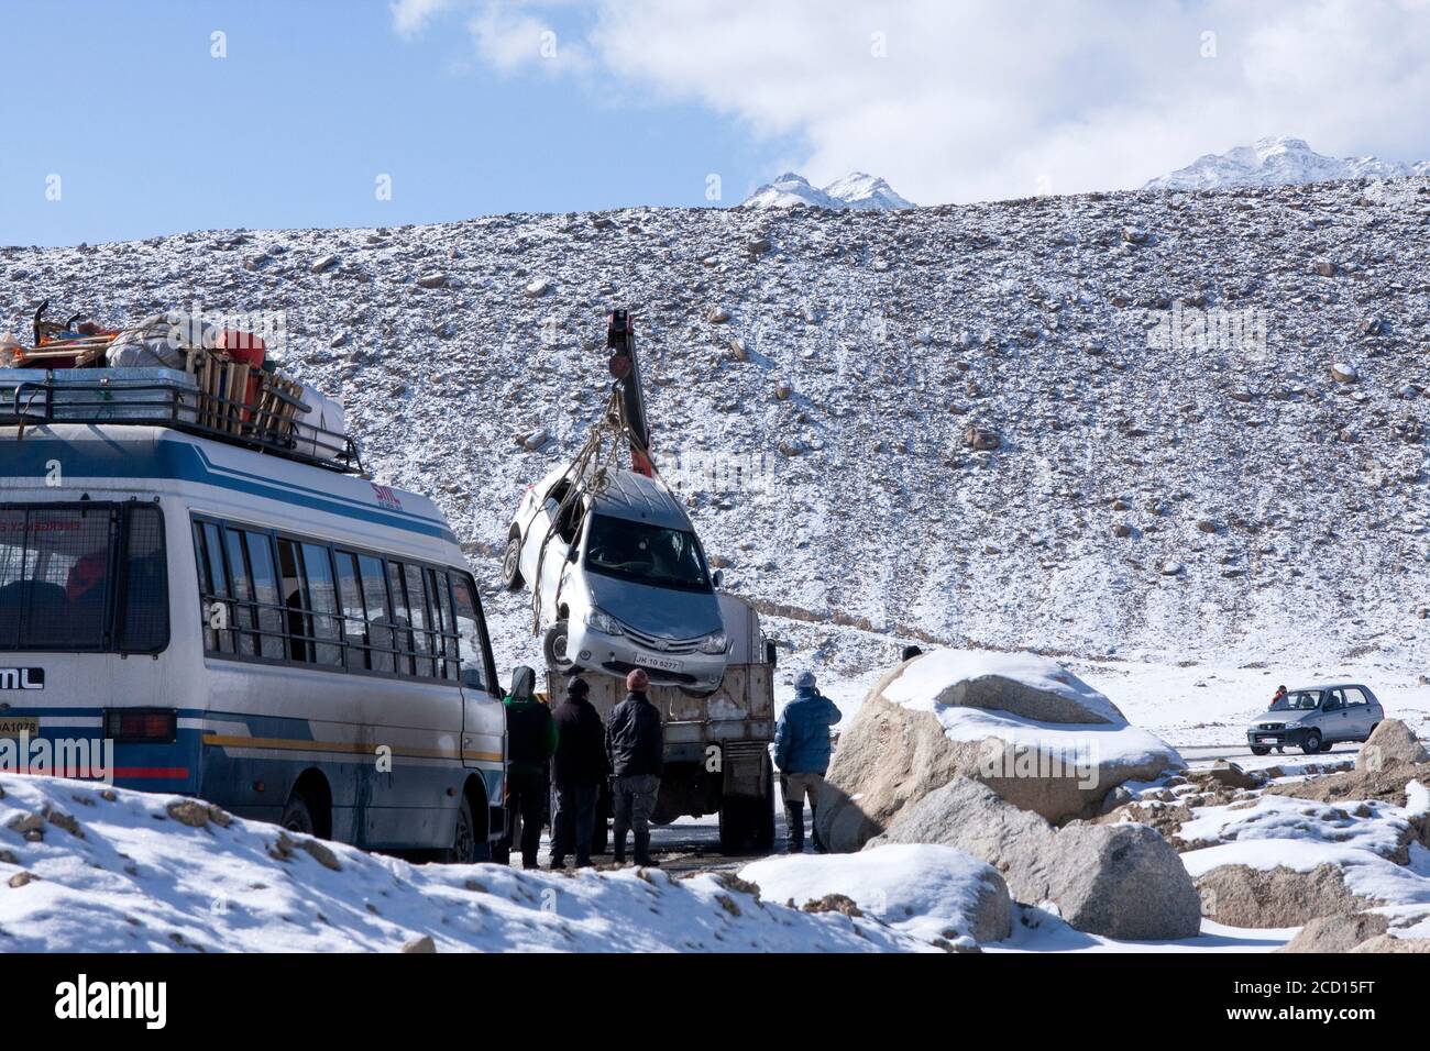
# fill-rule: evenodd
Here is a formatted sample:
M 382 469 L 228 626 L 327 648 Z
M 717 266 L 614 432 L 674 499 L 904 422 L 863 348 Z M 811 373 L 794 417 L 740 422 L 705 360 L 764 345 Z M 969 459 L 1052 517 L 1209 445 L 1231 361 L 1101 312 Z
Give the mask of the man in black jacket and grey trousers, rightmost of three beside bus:
M 651 865 L 651 814 L 661 791 L 665 762 L 665 731 L 661 712 L 646 698 L 651 676 L 644 668 L 626 675 L 626 699 L 611 712 L 606 725 L 606 755 L 611 758 L 611 789 L 615 796 L 615 851 L 612 861 L 625 864 L 625 834 L 635 829 L 635 864 Z

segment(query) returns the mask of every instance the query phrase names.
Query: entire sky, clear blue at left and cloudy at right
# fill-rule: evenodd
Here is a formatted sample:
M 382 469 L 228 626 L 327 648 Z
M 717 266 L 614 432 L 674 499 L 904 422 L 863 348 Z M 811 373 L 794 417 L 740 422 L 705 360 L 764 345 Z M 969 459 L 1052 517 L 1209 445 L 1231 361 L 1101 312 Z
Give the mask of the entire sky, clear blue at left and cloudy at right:
M 0 245 L 1424 160 L 1427 56 L 1430 0 L 0 0 Z

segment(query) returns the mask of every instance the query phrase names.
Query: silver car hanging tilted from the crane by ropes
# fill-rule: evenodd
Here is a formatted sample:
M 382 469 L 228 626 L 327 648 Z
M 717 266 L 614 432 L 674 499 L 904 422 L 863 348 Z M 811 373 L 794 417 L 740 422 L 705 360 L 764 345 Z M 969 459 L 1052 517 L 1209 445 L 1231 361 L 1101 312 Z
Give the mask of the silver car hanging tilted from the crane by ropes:
M 655 684 L 712 692 L 729 658 L 719 572 L 679 500 L 633 470 L 609 470 L 595 495 L 571 485 L 558 468 L 526 490 L 502 558 L 508 589 L 539 588 L 548 665 L 644 668 Z

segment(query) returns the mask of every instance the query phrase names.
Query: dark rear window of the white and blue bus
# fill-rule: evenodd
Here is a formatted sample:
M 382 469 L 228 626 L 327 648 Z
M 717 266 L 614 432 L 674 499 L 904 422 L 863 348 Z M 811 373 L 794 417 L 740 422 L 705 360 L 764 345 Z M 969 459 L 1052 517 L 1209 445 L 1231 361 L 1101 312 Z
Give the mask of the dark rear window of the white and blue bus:
M 157 652 L 167 579 L 153 505 L 0 506 L 0 649 Z

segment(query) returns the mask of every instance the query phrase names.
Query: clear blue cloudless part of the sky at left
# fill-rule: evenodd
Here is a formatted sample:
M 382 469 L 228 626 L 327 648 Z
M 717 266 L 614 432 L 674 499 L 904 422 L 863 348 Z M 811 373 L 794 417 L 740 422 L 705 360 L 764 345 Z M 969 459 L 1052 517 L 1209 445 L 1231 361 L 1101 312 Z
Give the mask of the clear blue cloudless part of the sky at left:
M 0 11 L 0 245 L 694 206 L 711 172 L 738 203 L 781 149 L 699 103 L 612 104 L 585 84 L 496 71 L 460 27 L 396 33 L 386 3 Z M 210 56 L 216 30 L 225 59 Z M 390 200 L 376 199 L 383 173 Z

